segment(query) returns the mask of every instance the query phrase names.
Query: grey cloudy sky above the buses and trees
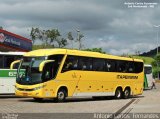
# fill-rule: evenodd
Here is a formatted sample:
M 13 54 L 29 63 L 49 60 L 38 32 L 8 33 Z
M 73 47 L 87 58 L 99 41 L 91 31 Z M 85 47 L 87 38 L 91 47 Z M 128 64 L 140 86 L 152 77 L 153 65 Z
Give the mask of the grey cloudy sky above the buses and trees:
M 30 38 L 32 27 L 56 28 L 76 37 L 78 29 L 84 48 L 114 55 L 156 48 L 154 25 L 160 25 L 160 0 L 0 0 L 0 26 L 7 31 Z

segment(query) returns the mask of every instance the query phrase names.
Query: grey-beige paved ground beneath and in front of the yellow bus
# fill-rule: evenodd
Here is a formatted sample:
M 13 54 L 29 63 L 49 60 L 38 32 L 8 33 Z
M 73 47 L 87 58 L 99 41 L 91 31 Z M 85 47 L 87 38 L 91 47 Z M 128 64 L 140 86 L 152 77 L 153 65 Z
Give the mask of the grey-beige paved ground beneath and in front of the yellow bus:
M 35 102 L 32 98 L 0 96 L 2 119 L 104 119 L 119 118 L 123 113 L 160 113 L 160 84 L 130 99 L 68 98 L 64 103 L 53 100 Z M 159 115 L 160 117 L 160 115 Z M 120 117 L 121 118 L 121 117 Z

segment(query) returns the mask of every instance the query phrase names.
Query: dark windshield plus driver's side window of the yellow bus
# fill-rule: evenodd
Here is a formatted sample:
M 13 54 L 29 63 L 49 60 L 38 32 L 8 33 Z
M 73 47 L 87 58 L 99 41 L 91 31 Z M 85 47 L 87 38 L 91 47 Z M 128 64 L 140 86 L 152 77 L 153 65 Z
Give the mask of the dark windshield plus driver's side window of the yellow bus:
M 22 85 L 34 85 L 55 79 L 64 55 L 50 55 L 47 57 L 23 57 L 17 72 L 16 82 Z M 39 65 L 50 60 L 39 72 Z

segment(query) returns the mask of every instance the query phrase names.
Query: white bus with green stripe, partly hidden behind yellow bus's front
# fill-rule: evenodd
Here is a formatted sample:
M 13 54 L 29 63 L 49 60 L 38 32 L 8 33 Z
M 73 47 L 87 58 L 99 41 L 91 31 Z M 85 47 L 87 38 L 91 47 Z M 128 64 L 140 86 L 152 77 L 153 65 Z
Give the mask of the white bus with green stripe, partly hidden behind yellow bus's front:
M 21 59 L 23 54 L 24 52 L 0 52 L 0 94 L 15 93 L 18 64 L 12 70 L 10 65 L 14 60 Z

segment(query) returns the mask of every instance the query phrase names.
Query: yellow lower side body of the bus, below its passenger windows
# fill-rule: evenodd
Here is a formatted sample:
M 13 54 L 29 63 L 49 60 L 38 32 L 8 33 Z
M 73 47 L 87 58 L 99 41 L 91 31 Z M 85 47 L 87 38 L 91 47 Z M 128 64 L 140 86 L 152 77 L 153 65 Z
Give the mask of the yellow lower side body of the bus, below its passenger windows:
M 117 75 L 138 76 L 138 79 L 117 79 Z M 117 87 L 131 88 L 131 94 L 142 94 L 143 75 L 113 72 L 68 71 L 58 78 L 58 85 L 65 84 L 69 96 L 113 96 Z M 58 90 L 58 89 L 57 89 Z

